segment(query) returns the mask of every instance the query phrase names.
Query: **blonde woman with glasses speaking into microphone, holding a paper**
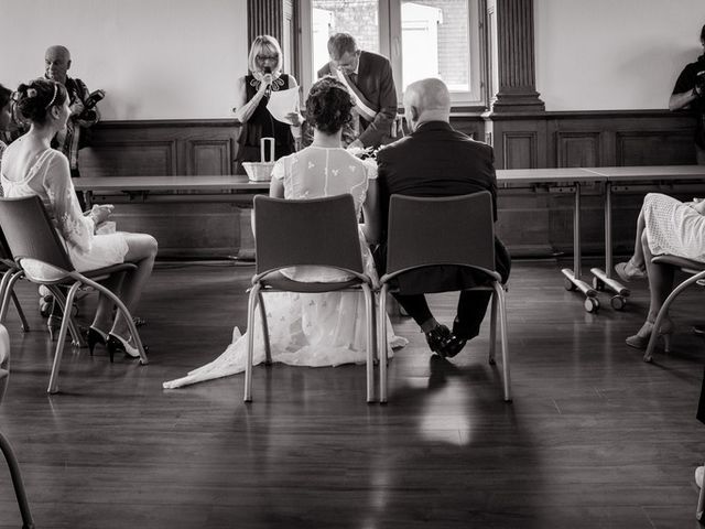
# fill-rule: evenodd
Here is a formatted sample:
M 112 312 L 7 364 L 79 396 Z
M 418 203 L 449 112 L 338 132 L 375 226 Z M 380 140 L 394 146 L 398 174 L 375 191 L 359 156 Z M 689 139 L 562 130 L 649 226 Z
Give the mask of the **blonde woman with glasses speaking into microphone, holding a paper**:
M 301 136 L 299 85 L 282 74 L 282 50 L 276 39 L 259 35 L 248 58 L 250 74 L 238 79 L 235 118 L 242 123 L 238 139 L 238 173 L 242 162 L 259 162 L 260 140 L 274 138 L 274 159 L 295 151 L 294 136 Z

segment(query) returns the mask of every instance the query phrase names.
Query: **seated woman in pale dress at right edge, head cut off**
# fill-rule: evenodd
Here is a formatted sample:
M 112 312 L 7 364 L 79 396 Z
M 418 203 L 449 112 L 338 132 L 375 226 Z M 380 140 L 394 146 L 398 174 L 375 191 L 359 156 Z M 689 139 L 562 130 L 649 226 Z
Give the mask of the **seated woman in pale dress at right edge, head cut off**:
M 634 253 L 619 262 L 615 271 L 623 281 L 649 279 L 651 295 L 647 321 L 639 332 L 627 338 L 627 345 L 646 349 L 659 311 L 673 290 L 673 267 L 651 262 L 653 256 L 668 253 L 705 263 L 705 202 L 683 203 L 668 195 L 649 193 L 637 220 Z M 665 320 L 658 330 L 669 341 L 673 322 Z

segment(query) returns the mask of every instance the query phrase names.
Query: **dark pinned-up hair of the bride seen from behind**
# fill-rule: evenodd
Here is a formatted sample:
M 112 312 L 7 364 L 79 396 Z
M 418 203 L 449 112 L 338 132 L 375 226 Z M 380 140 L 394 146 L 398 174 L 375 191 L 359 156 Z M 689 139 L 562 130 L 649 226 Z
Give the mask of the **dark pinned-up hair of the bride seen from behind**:
M 350 122 L 352 110 L 350 93 L 335 77 L 314 83 L 306 99 L 306 121 L 321 132 L 334 134 Z

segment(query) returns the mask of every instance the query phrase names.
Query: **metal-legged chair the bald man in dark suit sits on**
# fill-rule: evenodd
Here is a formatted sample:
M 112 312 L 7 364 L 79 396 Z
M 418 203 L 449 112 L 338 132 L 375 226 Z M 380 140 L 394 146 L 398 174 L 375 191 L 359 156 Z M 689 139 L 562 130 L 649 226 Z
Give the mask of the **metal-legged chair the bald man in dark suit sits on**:
M 495 270 L 492 198 L 487 191 L 441 198 L 391 196 L 387 230 L 387 273 L 380 278 L 377 312 L 380 402 L 387 401 L 387 333 L 383 325 L 387 293 L 399 291 L 394 280 L 404 272 L 440 264 L 468 268 L 487 277 L 487 285 L 467 290 L 488 290 L 494 293 L 489 363 L 495 364 L 499 311 L 503 392 L 505 400 L 509 402 L 507 309 L 501 277 Z

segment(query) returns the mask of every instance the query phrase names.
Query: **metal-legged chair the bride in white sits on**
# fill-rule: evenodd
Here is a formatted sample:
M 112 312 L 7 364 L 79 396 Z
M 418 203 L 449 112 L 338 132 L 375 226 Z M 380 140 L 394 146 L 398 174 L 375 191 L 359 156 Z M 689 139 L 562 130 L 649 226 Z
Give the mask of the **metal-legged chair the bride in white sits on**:
M 267 363 L 271 363 L 264 292 L 319 293 L 362 291 L 367 309 L 367 401 L 372 402 L 375 361 L 373 281 L 365 273 L 355 203 L 349 194 L 284 201 L 254 197 L 256 273 L 247 313 L 248 344 L 245 364 L 245 401 L 252 400 L 254 312 L 259 304 Z M 282 268 L 329 267 L 352 277 L 340 282 L 301 282 L 284 277 Z

